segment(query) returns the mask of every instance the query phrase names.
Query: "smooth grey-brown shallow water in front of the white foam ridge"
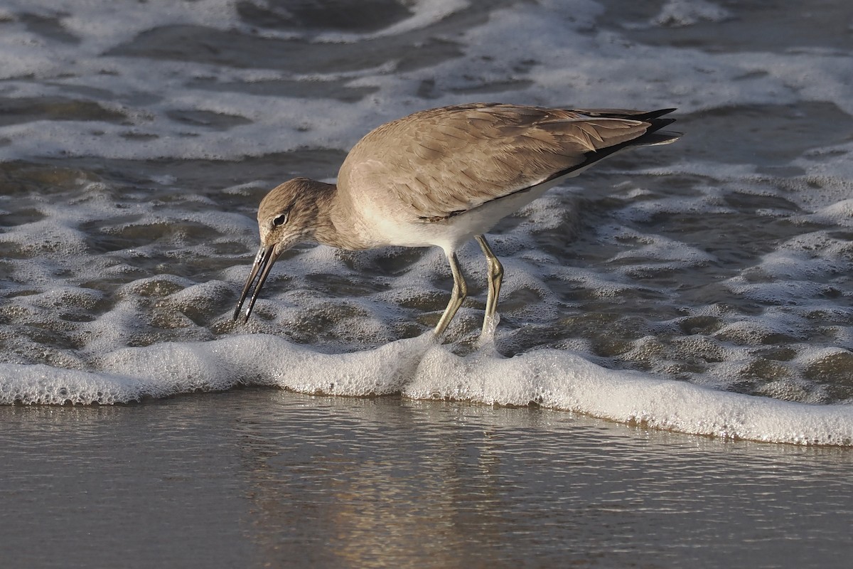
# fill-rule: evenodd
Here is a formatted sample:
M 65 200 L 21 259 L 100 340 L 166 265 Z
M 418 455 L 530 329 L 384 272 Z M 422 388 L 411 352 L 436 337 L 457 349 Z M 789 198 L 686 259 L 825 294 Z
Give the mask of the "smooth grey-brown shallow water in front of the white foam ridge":
M 270 389 L 0 421 L 7 566 L 833 568 L 853 552 L 845 449 Z

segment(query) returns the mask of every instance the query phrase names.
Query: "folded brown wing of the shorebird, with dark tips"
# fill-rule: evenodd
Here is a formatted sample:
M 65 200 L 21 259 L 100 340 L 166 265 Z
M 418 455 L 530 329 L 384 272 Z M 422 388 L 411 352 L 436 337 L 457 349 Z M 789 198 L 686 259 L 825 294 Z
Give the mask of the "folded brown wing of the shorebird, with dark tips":
M 501 104 L 431 109 L 364 136 L 339 183 L 357 169 L 433 221 L 566 175 L 671 122 L 656 116 Z

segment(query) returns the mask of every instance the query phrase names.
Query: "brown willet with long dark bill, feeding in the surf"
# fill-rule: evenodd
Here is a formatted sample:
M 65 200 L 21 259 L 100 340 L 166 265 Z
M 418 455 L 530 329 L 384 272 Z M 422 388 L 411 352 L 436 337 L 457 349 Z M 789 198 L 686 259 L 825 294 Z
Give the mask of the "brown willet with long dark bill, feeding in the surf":
M 483 329 L 495 315 L 503 267 L 485 232 L 567 177 L 626 148 L 674 142 L 659 131 L 675 109 L 570 110 L 474 103 L 410 114 L 369 132 L 340 166 L 337 185 L 297 177 L 258 207 L 261 246 L 234 311 L 245 321 L 281 253 L 299 241 L 344 249 L 438 246 L 453 289 L 435 334 L 467 295 L 456 251 L 472 237 L 488 269 Z M 257 282 L 256 282 L 257 281 Z

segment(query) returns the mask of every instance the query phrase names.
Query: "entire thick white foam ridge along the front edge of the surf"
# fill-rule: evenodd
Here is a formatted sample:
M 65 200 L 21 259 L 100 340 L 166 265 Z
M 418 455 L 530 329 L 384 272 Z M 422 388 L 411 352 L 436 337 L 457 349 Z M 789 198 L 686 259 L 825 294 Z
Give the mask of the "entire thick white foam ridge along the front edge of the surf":
M 853 406 L 798 404 L 601 368 L 559 350 L 465 357 L 431 334 L 326 354 L 267 334 L 125 348 L 101 370 L 0 364 L 0 404 L 117 404 L 237 385 L 350 397 L 538 404 L 678 433 L 853 446 Z

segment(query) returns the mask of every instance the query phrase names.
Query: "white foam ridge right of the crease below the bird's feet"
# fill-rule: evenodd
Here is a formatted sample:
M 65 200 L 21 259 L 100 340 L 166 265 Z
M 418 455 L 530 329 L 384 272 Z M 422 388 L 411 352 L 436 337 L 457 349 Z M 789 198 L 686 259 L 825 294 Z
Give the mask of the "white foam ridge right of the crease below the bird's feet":
M 463 377 L 455 389 L 435 391 L 441 378 Z M 506 378 L 513 378 L 508 381 Z M 575 411 L 647 427 L 774 443 L 853 444 L 853 407 L 799 404 L 720 392 L 688 382 L 604 369 L 558 350 L 509 359 L 457 357 L 432 350 L 421 361 L 413 398 L 470 399 Z

